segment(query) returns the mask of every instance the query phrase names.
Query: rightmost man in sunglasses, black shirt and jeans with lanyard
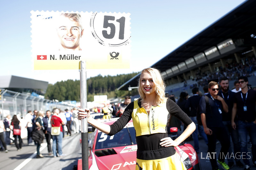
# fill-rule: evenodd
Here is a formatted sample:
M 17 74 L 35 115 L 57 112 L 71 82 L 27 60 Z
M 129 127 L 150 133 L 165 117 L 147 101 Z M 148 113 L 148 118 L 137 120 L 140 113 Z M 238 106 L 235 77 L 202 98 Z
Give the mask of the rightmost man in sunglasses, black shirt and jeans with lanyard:
M 250 169 L 250 157 L 247 152 L 248 133 L 252 140 L 252 162 L 256 166 L 256 91 L 248 89 L 248 78 L 245 76 L 239 77 L 238 83 L 242 90 L 234 96 L 231 125 L 233 129 L 238 129 L 244 169 Z M 235 122 L 236 115 L 237 124 Z

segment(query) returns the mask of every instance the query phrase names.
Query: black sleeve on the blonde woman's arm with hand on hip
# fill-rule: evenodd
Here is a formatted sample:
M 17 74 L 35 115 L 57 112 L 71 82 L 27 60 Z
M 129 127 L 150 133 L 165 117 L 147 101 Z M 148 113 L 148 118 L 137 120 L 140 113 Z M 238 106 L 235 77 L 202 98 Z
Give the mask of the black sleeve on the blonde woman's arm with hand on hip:
M 181 108 L 171 99 L 167 99 L 166 108 L 169 113 L 177 117 L 185 126 L 188 126 L 193 121 L 188 117 L 188 115 L 181 110 Z

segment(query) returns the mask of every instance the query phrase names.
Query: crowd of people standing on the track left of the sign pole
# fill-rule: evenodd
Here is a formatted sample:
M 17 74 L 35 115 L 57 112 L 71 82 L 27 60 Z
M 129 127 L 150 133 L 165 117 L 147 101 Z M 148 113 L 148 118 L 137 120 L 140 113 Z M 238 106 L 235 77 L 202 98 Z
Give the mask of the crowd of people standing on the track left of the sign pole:
M 28 111 L 25 115 L 25 128 L 27 129 L 28 145 L 36 145 L 36 158 L 43 158 L 40 147 L 43 140 L 46 140 L 48 155 L 53 157 L 65 156 L 62 153 L 62 138 L 73 133 L 81 132 L 81 121 L 77 119 L 77 108 L 65 111 L 54 108 L 47 110 Z M 0 151 L 8 152 L 8 147 L 15 145 L 17 151 L 22 150 L 23 139 L 21 138 L 21 123 L 17 115 L 7 115 L 4 120 L 0 120 Z

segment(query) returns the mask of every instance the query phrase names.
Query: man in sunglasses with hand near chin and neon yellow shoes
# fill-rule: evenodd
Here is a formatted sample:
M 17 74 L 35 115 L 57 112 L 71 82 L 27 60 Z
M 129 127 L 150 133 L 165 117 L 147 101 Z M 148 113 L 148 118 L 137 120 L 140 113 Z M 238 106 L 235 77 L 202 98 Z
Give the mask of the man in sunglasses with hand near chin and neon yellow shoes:
M 224 162 L 225 156 L 228 153 L 230 142 L 228 140 L 228 133 L 222 122 L 222 113 L 228 112 L 228 105 L 224 99 L 218 96 L 218 83 L 211 81 L 208 84 L 209 93 L 206 94 L 209 98 L 209 103 L 206 104 L 205 96 L 202 96 L 199 108 L 201 114 L 202 124 L 204 126 L 204 132 L 208 138 L 208 153 L 210 154 L 210 162 L 213 170 L 219 169 L 218 164 L 223 169 L 229 169 L 228 165 Z M 220 141 L 221 149 L 216 161 L 216 140 Z

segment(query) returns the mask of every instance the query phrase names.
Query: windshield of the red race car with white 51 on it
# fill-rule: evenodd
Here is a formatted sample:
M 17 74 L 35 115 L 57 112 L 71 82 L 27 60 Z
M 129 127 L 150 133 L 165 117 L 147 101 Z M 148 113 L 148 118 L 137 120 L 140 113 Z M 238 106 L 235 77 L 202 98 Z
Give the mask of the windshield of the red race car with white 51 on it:
M 127 124 L 128 125 L 128 124 Z M 101 131 L 98 131 L 95 149 L 106 149 L 136 143 L 135 129 L 132 126 L 125 126 L 120 132 L 113 136 L 108 136 Z

